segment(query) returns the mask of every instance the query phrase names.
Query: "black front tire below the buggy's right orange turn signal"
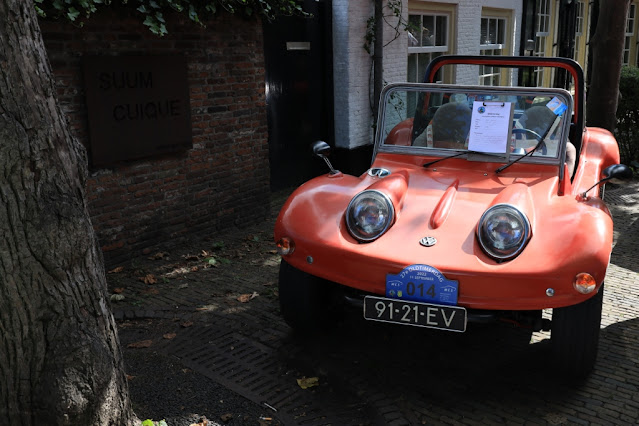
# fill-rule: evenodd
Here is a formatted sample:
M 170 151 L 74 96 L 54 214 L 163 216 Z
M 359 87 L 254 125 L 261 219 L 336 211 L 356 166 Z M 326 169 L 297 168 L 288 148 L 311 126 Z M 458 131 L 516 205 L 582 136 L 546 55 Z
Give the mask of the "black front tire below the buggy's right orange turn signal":
M 550 335 L 555 366 L 568 376 L 583 378 L 597 360 L 603 285 L 599 292 L 578 305 L 555 308 Z

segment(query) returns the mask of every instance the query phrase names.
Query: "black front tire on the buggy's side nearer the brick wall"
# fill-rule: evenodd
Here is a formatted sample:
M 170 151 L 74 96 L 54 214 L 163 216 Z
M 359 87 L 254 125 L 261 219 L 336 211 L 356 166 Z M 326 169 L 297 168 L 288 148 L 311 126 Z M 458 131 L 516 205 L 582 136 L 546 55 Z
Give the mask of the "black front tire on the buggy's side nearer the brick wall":
M 299 332 L 315 332 L 328 321 L 330 283 L 289 265 L 280 264 L 280 311 L 286 323 Z

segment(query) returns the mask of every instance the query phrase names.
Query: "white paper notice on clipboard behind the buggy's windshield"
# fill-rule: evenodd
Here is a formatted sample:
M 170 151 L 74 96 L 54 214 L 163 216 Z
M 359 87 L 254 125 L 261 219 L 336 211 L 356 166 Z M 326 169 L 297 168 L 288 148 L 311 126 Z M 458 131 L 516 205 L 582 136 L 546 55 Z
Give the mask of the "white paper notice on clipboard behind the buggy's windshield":
M 468 149 L 505 154 L 512 128 L 512 110 L 512 102 L 474 101 Z

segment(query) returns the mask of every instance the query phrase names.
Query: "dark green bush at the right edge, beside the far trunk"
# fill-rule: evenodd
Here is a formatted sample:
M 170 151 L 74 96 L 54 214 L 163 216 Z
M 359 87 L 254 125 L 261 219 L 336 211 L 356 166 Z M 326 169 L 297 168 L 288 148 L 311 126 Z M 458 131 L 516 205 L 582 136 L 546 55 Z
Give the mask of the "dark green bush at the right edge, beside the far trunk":
M 625 164 L 639 160 L 639 68 L 624 66 L 619 80 L 615 136 Z

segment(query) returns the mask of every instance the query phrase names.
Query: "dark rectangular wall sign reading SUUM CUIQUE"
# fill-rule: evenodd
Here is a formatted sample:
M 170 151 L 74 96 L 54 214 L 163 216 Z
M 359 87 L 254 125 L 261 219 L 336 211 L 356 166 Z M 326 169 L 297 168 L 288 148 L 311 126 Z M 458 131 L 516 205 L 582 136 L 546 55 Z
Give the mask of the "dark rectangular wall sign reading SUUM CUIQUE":
M 182 56 L 87 56 L 84 84 L 93 166 L 189 149 Z

